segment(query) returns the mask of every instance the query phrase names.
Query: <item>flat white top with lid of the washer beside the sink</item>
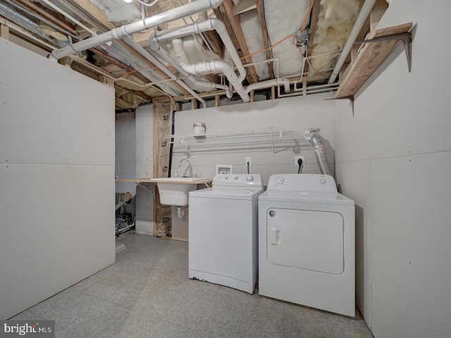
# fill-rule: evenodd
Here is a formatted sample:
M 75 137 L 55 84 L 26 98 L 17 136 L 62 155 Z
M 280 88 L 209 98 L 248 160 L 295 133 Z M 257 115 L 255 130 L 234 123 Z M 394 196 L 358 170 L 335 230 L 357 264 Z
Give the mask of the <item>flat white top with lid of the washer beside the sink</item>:
M 263 187 L 212 187 L 190 192 L 190 197 L 204 199 L 241 199 L 252 200 L 264 192 Z

